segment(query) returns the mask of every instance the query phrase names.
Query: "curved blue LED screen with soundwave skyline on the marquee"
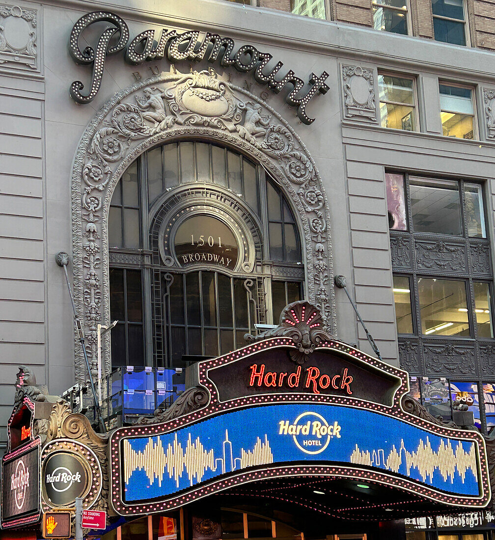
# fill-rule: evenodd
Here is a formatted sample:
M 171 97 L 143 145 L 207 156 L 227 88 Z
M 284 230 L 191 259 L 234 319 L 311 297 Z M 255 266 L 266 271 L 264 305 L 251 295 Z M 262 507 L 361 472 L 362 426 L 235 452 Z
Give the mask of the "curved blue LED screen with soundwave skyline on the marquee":
M 449 494 L 480 494 L 476 442 L 366 409 L 267 404 L 121 441 L 126 502 L 166 498 L 246 468 L 293 462 L 364 465 Z

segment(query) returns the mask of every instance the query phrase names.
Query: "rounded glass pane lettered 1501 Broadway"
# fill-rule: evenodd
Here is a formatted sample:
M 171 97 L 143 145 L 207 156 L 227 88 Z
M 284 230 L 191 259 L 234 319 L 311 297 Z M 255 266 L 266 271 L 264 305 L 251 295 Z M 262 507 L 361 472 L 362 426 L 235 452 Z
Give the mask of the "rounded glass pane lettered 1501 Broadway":
M 173 245 L 181 266 L 216 265 L 233 270 L 239 257 L 236 237 L 211 215 L 193 215 L 183 221 Z

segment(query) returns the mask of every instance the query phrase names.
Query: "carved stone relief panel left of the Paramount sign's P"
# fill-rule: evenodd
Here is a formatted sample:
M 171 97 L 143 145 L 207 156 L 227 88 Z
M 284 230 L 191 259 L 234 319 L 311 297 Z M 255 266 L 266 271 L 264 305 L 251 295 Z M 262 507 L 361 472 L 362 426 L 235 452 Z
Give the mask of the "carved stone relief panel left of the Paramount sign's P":
M 38 68 L 36 24 L 36 10 L 0 6 L 0 64 L 12 62 Z

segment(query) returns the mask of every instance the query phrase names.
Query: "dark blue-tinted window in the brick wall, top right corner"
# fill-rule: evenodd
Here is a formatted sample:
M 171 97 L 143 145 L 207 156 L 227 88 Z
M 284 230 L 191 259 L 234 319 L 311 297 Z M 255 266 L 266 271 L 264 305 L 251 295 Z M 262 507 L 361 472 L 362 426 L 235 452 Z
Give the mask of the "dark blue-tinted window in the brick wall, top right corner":
M 432 0 L 433 31 L 437 41 L 467 44 L 464 0 Z

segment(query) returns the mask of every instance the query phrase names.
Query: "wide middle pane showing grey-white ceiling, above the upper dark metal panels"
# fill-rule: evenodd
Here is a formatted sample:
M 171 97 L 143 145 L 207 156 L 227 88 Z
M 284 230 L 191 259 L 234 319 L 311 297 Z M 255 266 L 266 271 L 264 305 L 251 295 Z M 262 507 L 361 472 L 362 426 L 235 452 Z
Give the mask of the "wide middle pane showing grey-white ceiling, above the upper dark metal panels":
M 410 195 L 414 231 L 463 234 L 457 182 L 410 178 Z

